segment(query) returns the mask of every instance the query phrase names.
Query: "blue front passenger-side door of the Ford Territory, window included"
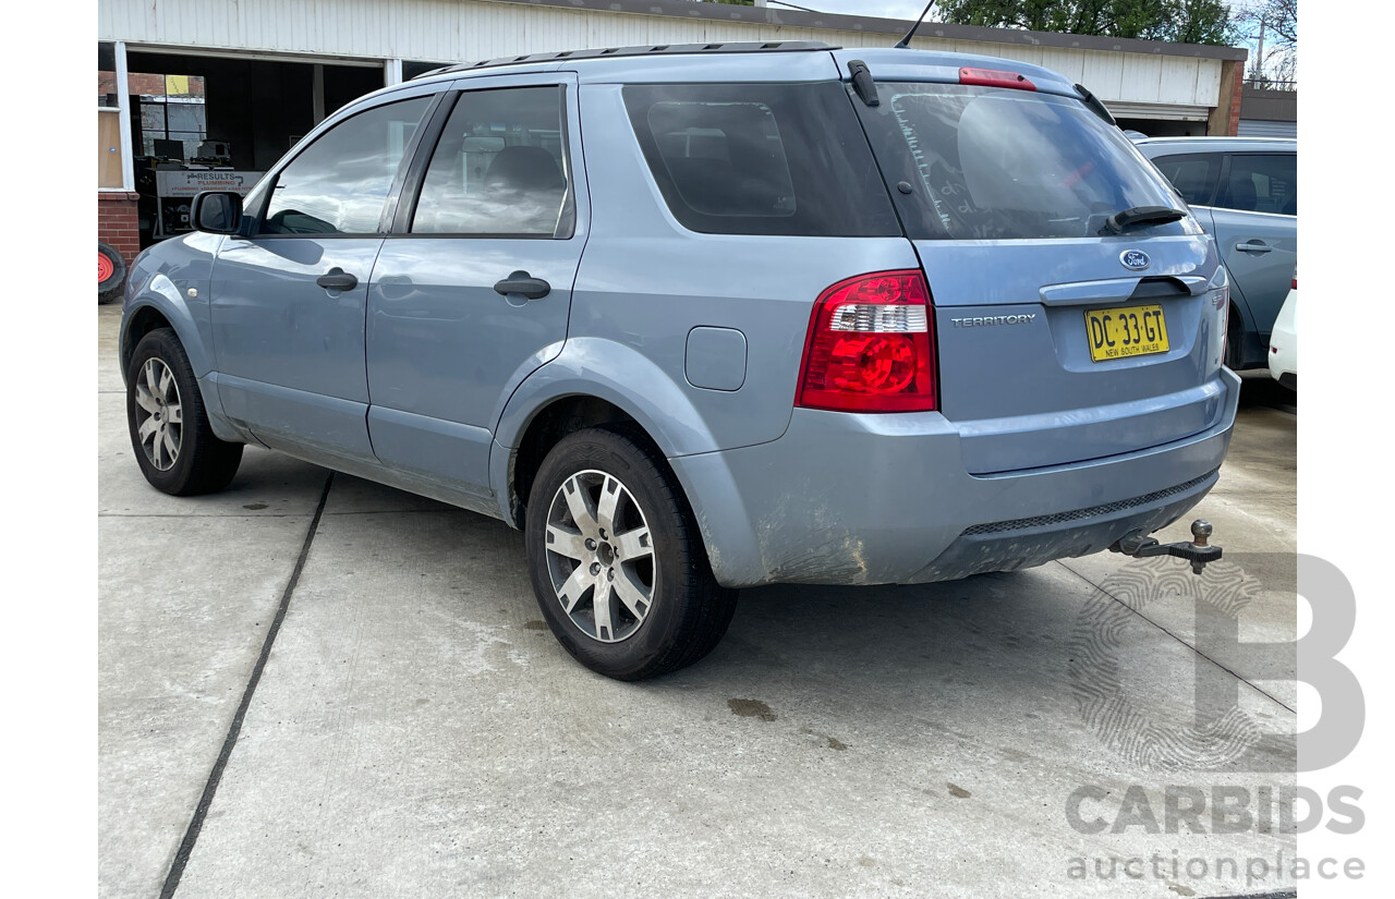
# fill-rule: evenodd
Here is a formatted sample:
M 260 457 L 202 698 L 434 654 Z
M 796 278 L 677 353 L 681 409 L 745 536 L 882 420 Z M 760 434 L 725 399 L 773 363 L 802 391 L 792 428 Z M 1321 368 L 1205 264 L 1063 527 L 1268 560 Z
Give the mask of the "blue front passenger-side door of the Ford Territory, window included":
M 219 399 L 268 446 L 371 460 L 364 309 L 385 206 L 431 95 L 333 125 L 273 176 L 251 237 L 225 240 L 211 322 Z

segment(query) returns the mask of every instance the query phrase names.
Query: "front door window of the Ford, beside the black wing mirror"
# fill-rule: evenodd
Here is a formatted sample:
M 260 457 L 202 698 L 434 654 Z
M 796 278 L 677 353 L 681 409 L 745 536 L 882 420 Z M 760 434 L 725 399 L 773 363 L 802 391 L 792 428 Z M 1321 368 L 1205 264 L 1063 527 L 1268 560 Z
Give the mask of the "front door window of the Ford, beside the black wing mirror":
M 423 96 L 346 118 L 276 176 L 264 234 L 377 234 L 407 142 L 431 106 Z

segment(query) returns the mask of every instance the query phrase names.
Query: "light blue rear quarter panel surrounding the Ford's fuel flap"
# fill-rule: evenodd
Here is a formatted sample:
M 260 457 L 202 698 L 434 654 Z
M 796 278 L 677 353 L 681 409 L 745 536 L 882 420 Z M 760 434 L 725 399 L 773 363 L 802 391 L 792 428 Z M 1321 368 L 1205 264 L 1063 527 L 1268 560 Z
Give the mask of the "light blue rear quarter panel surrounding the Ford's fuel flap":
M 568 341 L 586 341 L 585 365 L 597 372 L 617 368 L 605 374 L 632 397 L 621 403 L 626 411 L 647 401 L 639 397 L 664 390 L 682 397 L 670 415 L 696 421 L 671 422 L 653 435 L 668 456 L 774 440 L 790 424 L 815 300 L 854 275 L 919 268 L 911 243 L 689 231 L 668 212 L 649 173 L 621 86 L 582 85 L 580 99 L 593 227 Z M 689 383 L 685 353 L 695 328 L 745 336 L 745 372 L 730 379 L 738 389 Z M 651 367 L 647 376 L 621 367 L 636 357 Z M 564 351 L 551 365 L 568 358 Z

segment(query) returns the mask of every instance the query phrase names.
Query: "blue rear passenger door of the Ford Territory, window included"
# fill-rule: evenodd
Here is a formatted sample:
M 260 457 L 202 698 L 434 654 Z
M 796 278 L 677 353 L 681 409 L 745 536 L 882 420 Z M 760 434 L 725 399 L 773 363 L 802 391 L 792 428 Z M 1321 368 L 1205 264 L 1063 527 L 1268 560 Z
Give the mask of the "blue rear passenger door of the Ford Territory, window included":
M 455 88 L 368 290 L 368 431 L 385 464 L 485 495 L 504 401 L 566 339 L 589 208 L 575 75 Z

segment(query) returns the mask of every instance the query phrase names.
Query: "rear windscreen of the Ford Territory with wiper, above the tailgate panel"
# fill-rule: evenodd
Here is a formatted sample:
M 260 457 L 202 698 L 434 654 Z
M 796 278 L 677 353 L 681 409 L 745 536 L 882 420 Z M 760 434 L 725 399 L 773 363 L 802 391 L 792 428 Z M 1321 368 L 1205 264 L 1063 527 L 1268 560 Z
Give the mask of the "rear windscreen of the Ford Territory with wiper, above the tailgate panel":
M 1180 205 L 1129 138 L 1078 100 L 957 84 L 877 91 L 880 106 L 857 106 L 887 181 L 905 183 L 897 201 L 912 238 L 1096 237 L 1116 212 Z

